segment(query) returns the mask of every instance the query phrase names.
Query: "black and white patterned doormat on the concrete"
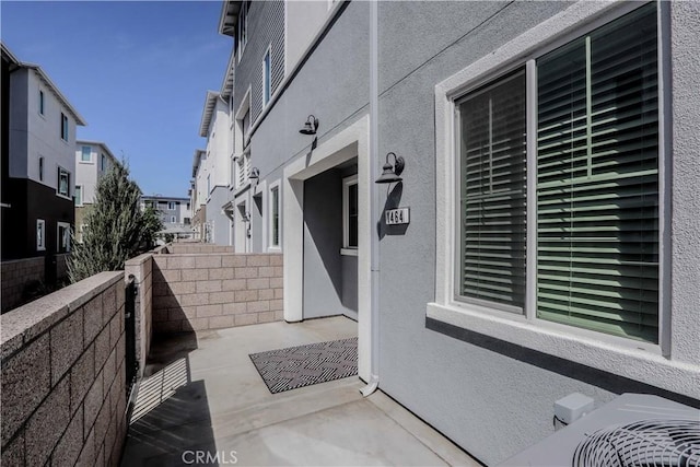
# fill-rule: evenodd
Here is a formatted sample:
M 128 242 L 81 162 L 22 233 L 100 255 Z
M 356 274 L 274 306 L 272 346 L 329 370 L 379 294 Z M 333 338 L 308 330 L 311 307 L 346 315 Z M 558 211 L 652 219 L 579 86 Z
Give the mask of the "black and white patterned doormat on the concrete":
M 358 338 L 250 353 L 270 393 L 358 374 Z

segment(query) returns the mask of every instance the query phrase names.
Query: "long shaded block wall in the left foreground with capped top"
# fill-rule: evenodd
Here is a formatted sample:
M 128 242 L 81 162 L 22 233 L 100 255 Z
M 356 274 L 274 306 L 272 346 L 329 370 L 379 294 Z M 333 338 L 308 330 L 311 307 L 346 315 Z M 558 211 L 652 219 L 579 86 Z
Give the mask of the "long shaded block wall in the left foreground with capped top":
M 116 466 L 126 439 L 124 272 L 2 315 L 3 466 Z

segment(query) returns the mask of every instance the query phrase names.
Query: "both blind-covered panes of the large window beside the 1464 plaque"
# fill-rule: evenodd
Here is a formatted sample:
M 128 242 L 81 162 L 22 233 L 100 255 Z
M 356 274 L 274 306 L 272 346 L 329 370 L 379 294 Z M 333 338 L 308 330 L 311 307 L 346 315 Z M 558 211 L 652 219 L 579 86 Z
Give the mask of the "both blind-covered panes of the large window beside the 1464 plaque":
M 644 5 L 455 102 L 458 300 L 524 313 L 529 292 L 539 319 L 658 342 L 656 16 Z

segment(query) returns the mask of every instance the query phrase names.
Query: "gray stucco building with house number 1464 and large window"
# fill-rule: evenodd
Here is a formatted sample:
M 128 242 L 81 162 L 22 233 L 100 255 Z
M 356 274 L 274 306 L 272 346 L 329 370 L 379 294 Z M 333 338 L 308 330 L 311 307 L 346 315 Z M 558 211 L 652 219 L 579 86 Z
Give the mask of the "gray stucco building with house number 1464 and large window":
M 233 157 L 259 172 L 232 177 L 234 247 L 281 249 L 285 320 L 354 317 L 360 377 L 486 464 L 574 392 L 698 406 L 699 16 L 225 1 Z

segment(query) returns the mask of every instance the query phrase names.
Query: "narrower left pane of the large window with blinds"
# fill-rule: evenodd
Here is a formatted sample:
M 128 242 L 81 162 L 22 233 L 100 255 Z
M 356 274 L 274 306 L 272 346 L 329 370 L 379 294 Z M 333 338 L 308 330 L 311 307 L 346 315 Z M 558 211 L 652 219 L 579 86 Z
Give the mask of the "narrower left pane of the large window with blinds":
M 526 244 L 525 72 L 459 103 L 464 297 L 522 310 Z

